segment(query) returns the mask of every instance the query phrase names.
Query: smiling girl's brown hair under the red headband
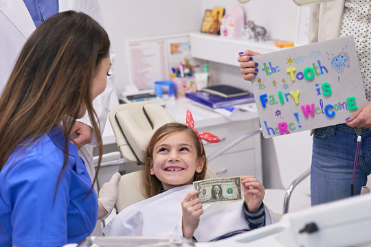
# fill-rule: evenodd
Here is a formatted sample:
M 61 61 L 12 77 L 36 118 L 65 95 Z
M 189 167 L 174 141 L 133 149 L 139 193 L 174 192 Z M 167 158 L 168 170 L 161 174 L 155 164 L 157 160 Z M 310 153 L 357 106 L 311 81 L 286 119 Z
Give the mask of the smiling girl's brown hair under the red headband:
M 205 149 L 203 146 L 201 147 L 201 142 L 199 137 L 197 136 L 196 132 L 192 130 L 192 128 L 184 125 L 179 124 L 176 122 L 172 122 L 169 124 L 165 124 L 161 126 L 159 129 L 155 131 L 152 138 L 150 139 L 150 143 L 148 144 L 148 149 L 146 151 L 146 158 L 144 161 L 144 167 L 142 171 L 142 194 L 146 198 L 150 198 L 152 196 L 156 196 L 162 189 L 161 181 L 155 175 L 150 174 L 150 163 L 153 161 L 153 148 L 155 147 L 156 143 L 168 137 L 170 134 L 185 131 L 190 134 L 194 141 L 194 146 L 197 150 L 197 158 L 204 158 L 203 161 L 203 169 L 200 173 L 194 172 L 193 180 L 203 180 L 206 175 L 207 171 L 207 161 L 205 155 Z M 202 149 L 201 149 L 202 148 Z M 201 150 L 203 152 L 201 153 Z

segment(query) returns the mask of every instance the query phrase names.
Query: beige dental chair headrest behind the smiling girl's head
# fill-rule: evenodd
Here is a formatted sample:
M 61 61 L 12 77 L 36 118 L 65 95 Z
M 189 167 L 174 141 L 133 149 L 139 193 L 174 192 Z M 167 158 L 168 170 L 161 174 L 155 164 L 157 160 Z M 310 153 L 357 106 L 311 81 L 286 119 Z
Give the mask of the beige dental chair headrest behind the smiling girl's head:
M 127 161 L 144 163 L 150 137 L 175 118 L 157 103 L 133 102 L 113 107 L 109 121 L 122 156 Z

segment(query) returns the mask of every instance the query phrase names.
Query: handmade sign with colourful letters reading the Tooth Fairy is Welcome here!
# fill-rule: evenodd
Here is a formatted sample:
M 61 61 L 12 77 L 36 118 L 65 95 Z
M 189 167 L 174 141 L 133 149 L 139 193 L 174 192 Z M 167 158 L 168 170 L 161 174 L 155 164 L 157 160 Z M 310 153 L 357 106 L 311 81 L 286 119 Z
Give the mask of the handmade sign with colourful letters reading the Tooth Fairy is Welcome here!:
M 254 57 L 265 138 L 345 123 L 367 103 L 353 36 Z

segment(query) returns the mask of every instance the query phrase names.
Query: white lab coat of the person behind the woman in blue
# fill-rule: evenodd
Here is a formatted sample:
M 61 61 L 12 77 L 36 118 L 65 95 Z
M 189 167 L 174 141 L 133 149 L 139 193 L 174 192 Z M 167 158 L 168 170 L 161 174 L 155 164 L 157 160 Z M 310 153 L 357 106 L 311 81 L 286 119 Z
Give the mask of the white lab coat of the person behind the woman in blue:
M 59 0 L 59 12 L 75 10 L 89 14 L 95 21 L 102 25 L 102 14 L 98 0 Z M 103 25 L 102 25 L 103 26 Z M 23 3 L 23 0 L 0 0 L 0 92 L 3 91 L 16 58 L 19 56 L 27 38 L 36 29 L 32 17 Z M 113 66 L 114 54 L 111 51 L 111 63 Z M 113 91 L 113 76 L 107 78 L 106 89 L 93 100 L 93 107 L 98 115 L 100 132 L 104 130 L 109 111 L 109 98 Z M 79 119 L 91 126 L 89 116 Z M 95 140 L 93 140 L 94 144 Z M 91 176 L 94 175 L 92 161 L 92 147 L 85 145 L 82 151 L 85 155 L 80 155 L 87 163 L 87 170 Z

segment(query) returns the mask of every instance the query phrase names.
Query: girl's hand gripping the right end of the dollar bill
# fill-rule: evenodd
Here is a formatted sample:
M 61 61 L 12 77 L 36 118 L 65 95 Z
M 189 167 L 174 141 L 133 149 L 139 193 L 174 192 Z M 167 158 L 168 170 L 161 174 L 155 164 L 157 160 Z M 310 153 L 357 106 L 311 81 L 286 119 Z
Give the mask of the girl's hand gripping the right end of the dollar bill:
M 250 212 L 256 212 L 265 195 L 265 188 L 254 176 L 243 176 L 241 178 L 243 184 L 243 196 L 245 196 L 245 203 Z

